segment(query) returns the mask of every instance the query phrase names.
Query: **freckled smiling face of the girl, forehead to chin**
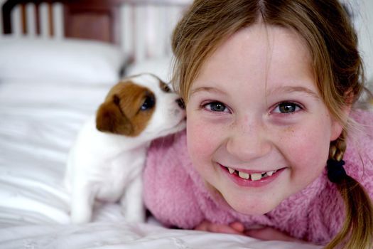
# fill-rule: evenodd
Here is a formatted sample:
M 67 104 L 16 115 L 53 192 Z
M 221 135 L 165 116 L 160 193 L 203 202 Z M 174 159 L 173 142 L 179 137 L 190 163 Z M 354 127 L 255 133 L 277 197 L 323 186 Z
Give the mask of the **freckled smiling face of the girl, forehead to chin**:
M 205 62 L 187 103 L 188 152 L 217 198 L 267 213 L 321 174 L 342 127 L 314 82 L 303 40 L 261 23 Z

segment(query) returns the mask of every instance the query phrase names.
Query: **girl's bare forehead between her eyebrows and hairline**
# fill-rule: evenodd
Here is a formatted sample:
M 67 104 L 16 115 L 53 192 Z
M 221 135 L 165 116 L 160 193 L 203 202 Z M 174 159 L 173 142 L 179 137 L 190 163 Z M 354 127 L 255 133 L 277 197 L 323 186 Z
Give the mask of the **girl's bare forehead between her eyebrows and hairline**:
M 191 87 L 295 85 L 313 79 L 310 53 L 295 31 L 256 23 L 227 38 L 202 65 Z M 202 85 L 201 85 L 202 84 Z M 224 84 L 223 84 L 224 85 Z

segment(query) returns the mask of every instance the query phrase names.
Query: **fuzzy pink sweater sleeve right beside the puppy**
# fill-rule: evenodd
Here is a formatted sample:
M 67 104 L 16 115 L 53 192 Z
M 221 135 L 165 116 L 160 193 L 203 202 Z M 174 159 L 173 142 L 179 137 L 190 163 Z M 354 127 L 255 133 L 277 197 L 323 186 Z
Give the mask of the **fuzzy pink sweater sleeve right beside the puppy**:
M 151 144 L 144 170 L 144 201 L 164 225 L 190 229 L 202 222 L 203 216 L 196 186 L 185 171 L 191 165 L 186 151 L 183 132 Z

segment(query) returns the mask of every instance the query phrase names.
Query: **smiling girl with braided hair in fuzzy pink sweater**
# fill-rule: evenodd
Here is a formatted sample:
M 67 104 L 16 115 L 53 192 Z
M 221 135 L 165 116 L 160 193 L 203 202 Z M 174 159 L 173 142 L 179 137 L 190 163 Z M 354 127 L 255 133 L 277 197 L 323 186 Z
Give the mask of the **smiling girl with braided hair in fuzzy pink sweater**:
M 362 60 L 337 0 L 196 0 L 173 52 L 187 132 L 148 152 L 159 221 L 372 248 L 373 115 L 352 111 Z

